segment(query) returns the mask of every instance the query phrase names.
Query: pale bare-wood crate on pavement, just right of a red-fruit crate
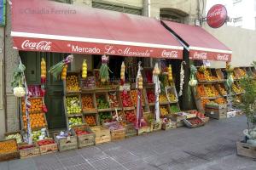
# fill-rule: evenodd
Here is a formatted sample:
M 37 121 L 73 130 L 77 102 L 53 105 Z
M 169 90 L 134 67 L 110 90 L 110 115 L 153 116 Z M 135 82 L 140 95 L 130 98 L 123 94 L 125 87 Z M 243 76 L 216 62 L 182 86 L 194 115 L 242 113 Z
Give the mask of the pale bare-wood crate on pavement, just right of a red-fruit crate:
M 91 130 L 96 134 L 96 144 L 102 144 L 111 141 L 110 130 L 101 126 L 91 127 Z

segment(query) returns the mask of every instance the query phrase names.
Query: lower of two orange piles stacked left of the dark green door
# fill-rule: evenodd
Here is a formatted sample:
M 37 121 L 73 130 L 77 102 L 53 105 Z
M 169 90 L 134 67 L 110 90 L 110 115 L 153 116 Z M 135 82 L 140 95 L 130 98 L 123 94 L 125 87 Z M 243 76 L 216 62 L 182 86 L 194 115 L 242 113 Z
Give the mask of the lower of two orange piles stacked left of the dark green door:
M 24 128 L 26 129 L 27 123 L 26 123 L 26 115 L 22 116 Z M 44 113 L 34 113 L 30 114 L 30 124 L 32 129 L 33 128 L 42 128 L 46 127 L 46 122 L 44 118 Z

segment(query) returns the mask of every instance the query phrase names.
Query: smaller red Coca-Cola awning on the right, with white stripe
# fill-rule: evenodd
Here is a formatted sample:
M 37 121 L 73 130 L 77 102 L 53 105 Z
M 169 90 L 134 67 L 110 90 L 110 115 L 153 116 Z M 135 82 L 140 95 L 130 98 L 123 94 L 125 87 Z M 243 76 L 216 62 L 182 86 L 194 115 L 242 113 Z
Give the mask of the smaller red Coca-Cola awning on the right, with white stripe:
M 230 61 L 232 51 L 199 26 L 189 26 L 162 20 L 162 24 L 183 42 L 189 59 Z

